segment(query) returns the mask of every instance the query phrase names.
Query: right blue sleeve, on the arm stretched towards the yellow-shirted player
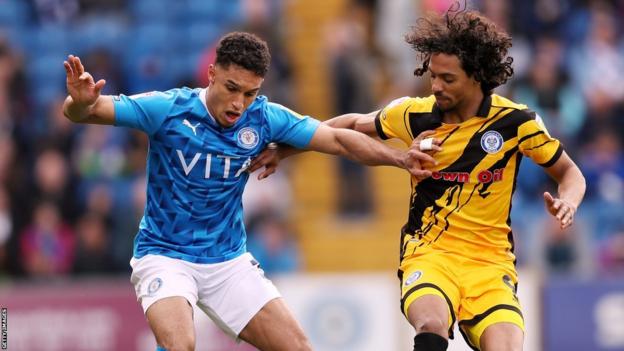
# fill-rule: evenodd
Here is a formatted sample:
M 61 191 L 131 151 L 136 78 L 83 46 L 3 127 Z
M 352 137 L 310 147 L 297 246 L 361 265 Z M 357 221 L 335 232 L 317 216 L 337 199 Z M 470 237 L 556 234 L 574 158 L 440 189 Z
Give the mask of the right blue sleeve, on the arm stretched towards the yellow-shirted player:
M 265 112 L 269 123 L 270 140 L 299 149 L 308 146 L 321 123 L 272 102 L 267 103 Z

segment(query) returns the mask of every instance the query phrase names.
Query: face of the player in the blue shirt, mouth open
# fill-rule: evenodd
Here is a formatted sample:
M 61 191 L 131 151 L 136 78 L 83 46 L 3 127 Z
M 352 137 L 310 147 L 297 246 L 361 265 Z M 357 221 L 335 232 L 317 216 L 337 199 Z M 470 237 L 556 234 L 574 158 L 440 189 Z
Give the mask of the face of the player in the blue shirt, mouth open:
M 264 78 L 238 65 L 210 65 L 206 105 L 222 127 L 231 127 L 254 101 Z

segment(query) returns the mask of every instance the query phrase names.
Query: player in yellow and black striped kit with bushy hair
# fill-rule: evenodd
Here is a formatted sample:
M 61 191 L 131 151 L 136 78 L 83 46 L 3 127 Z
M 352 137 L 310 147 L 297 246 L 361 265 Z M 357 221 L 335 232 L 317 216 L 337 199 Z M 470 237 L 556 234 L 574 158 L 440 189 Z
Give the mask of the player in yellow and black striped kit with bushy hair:
M 562 228 L 574 220 L 585 180 L 535 112 L 493 93 L 513 74 L 507 33 L 457 8 L 417 23 L 406 41 L 423 59 L 415 75 L 430 75 L 433 94 L 325 123 L 398 138 L 435 158 L 422 164 L 422 177 L 412 176 L 401 231 L 401 308 L 416 331 L 414 350 L 446 350 L 456 321 L 475 350 L 522 350 L 510 227 L 520 161 L 530 158 L 557 181 L 558 196 L 546 192 L 544 201 Z M 252 169 L 270 173 L 295 153 L 272 152 Z

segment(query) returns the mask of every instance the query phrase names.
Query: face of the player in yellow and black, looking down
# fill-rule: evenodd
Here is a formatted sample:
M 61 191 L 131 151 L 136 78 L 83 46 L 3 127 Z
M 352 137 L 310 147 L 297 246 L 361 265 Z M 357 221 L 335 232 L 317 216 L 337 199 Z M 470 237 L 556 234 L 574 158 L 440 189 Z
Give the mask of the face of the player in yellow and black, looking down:
M 455 55 L 431 55 L 429 73 L 436 104 L 444 112 L 453 111 L 473 97 L 480 96 L 480 84 L 466 74 Z

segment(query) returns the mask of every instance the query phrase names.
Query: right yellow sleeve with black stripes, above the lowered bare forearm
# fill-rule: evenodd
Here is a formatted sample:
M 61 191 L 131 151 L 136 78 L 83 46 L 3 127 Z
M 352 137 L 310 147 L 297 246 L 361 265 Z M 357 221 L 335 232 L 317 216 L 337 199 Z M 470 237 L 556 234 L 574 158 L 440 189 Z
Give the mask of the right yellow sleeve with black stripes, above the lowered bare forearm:
M 538 114 L 528 110 L 527 113 L 533 118 L 518 127 L 518 148 L 538 165 L 550 167 L 563 153 L 561 142 L 550 136 Z

